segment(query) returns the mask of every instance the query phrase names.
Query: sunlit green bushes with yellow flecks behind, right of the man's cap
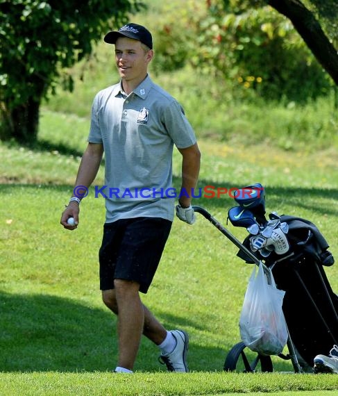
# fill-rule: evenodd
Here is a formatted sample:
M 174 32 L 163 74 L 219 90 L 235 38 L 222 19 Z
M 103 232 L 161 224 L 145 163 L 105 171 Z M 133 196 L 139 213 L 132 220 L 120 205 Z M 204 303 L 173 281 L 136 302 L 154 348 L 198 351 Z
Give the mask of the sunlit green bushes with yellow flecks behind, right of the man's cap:
M 155 72 L 190 63 L 196 72 L 225 81 L 226 92 L 240 100 L 258 94 L 304 103 L 332 92 L 333 81 L 291 20 L 267 0 L 187 0 L 180 12 L 176 0 L 165 7 L 166 18 L 154 28 L 160 38 Z M 334 23 L 328 8 L 323 11 L 320 22 L 329 29 Z M 329 37 L 337 30 L 330 29 Z

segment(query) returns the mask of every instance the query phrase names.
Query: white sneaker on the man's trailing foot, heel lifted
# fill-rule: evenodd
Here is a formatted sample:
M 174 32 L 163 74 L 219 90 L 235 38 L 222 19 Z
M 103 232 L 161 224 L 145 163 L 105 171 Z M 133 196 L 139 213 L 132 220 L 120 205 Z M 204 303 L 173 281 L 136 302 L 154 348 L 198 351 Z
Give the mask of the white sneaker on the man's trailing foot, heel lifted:
M 187 350 L 189 337 L 183 330 L 171 330 L 170 332 L 176 339 L 176 347 L 170 354 L 161 354 L 159 361 L 167 365 L 168 371 L 188 372 Z

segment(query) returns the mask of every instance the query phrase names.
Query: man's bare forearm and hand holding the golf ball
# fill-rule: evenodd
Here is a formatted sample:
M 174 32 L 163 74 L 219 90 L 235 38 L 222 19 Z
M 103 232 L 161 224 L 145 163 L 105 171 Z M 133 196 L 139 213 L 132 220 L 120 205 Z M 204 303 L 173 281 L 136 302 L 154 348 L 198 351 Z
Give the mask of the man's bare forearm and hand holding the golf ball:
M 103 156 L 103 145 L 96 143 L 88 143 L 87 149 L 83 153 L 80 166 L 78 167 L 78 174 L 76 176 L 76 182 L 73 190 L 72 197 L 76 197 L 74 191 L 78 186 L 84 186 L 85 188 L 90 188 L 90 185 L 94 181 L 99 167 L 101 164 Z M 79 197 L 76 197 L 79 198 Z M 60 224 L 66 229 L 76 229 L 78 225 L 78 213 L 80 212 L 80 207 L 78 202 L 70 201 L 69 205 L 62 213 Z M 70 226 L 67 224 L 69 217 L 74 217 L 75 225 Z

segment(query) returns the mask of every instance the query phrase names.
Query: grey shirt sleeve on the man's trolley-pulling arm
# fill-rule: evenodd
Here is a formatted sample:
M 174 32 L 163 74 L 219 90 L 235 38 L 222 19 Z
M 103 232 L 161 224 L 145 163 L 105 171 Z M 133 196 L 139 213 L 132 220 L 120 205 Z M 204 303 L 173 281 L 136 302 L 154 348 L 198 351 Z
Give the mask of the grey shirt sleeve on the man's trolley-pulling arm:
M 196 143 L 194 129 L 190 125 L 183 107 L 174 100 L 164 108 L 163 123 L 178 149 L 186 149 Z

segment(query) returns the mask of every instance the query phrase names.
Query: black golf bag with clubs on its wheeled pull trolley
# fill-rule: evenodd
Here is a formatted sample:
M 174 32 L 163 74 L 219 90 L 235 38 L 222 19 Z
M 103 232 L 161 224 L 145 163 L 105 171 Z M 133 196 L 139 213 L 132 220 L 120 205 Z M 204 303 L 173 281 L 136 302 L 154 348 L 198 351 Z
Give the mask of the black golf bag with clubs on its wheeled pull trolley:
M 325 266 L 335 263 L 328 242 L 319 229 L 300 217 L 271 213 L 265 216 L 265 191 L 260 183 L 239 189 L 234 194 L 237 206 L 228 211 L 233 226 L 245 227 L 249 235 L 240 242 L 208 211 L 194 206 L 238 248 L 237 256 L 246 263 L 264 263 L 273 274 L 276 286 L 285 291 L 282 311 L 287 323 L 289 354 L 295 372 L 312 371 L 317 354 L 328 354 L 338 345 L 338 296 L 333 292 Z M 270 356 L 257 354 L 251 363 L 243 342 L 226 356 L 223 369 L 237 370 L 242 358 L 244 372 L 273 371 Z

